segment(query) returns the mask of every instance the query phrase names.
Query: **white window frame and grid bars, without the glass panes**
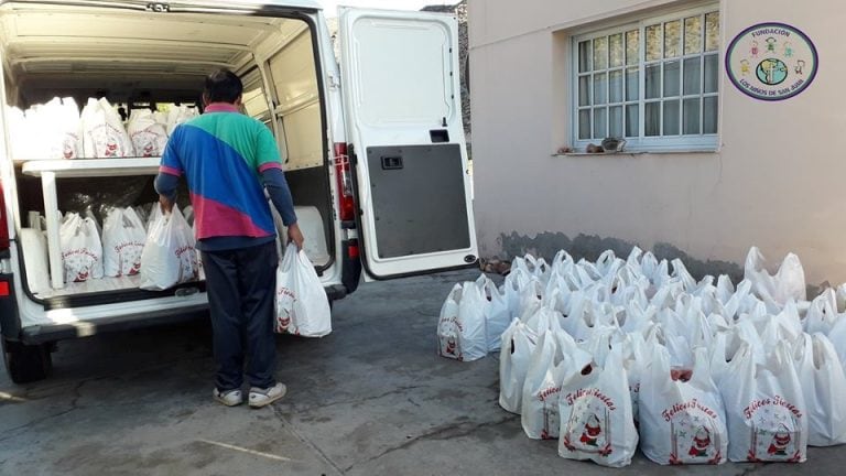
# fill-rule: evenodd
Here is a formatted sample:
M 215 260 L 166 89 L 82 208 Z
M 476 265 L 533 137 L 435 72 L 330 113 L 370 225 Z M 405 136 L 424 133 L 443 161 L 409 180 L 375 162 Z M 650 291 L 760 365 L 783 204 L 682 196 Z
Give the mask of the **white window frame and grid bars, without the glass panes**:
M 707 37 L 706 37 L 706 15 L 708 13 L 717 12 L 719 14 L 718 20 L 718 42 L 716 50 L 706 50 L 707 47 Z M 691 54 L 684 54 L 684 22 L 685 19 L 691 17 L 701 17 L 702 18 L 702 48 L 697 53 L 691 53 Z M 647 26 L 652 26 L 655 24 L 664 25 L 666 22 L 672 21 L 680 21 L 682 25 L 681 30 L 681 41 L 680 41 L 680 47 L 681 52 L 677 56 L 674 57 L 664 57 L 664 35 L 662 32 L 661 36 L 661 57 L 659 60 L 653 61 L 647 61 Z M 592 137 L 595 132 L 595 122 L 594 122 L 594 109 L 597 106 L 605 106 L 606 108 L 606 137 L 610 137 L 610 127 L 611 123 L 609 121 L 609 116 L 611 113 L 611 107 L 620 106 L 622 110 L 622 138 L 626 139 L 626 150 L 631 152 L 674 152 L 674 151 L 716 151 L 719 147 L 719 136 L 720 136 L 720 127 L 722 127 L 722 96 L 723 96 L 723 84 L 722 84 L 722 75 L 723 75 L 723 56 L 724 56 L 724 41 L 723 41 L 723 29 L 724 29 L 724 18 L 723 12 L 720 11 L 719 3 L 707 3 L 703 4 L 696 8 L 688 8 L 683 10 L 676 10 L 673 12 L 666 12 L 662 14 L 652 14 L 652 15 L 642 15 L 640 18 L 637 18 L 634 20 L 630 20 L 627 22 L 621 22 L 615 25 L 609 25 L 607 28 L 603 28 L 599 30 L 590 30 L 590 31 L 584 31 L 584 32 L 577 32 L 572 35 L 571 37 L 571 61 L 568 62 L 570 66 L 570 80 L 571 80 L 571 107 L 570 107 L 570 117 L 571 117 L 571 127 L 570 127 L 570 136 L 571 136 L 571 143 L 576 150 L 585 150 L 588 144 L 599 144 L 603 139 L 579 139 L 579 112 L 582 110 L 590 110 L 590 132 Z M 637 64 L 628 64 L 626 54 L 627 54 L 627 47 L 626 47 L 626 40 L 627 40 L 627 33 L 636 30 L 638 31 L 638 62 Z M 604 69 L 599 69 L 599 74 L 606 74 L 605 78 L 605 102 L 604 105 L 596 105 L 594 104 L 594 88 L 595 83 L 593 80 L 593 77 L 595 75 L 595 69 L 593 68 L 593 56 L 594 56 L 594 48 L 593 48 L 593 40 L 595 39 L 601 39 L 601 37 L 608 37 L 610 39 L 614 35 L 621 35 L 622 37 L 622 51 L 623 51 L 623 57 L 622 57 L 622 64 L 620 66 L 611 66 L 610 65 L 610 41 L 608 41 L 608 64 Z M 590 48 L 588 52 L 589 55 L 589 67 L 587 71 L 588 79 L 588 94 L 590 97 L 589 106 L 584 107 L 579 105 L 579 78 L 585 77 L 584 73 L 579 73 L 579 43 L 590 41 Z M 707 56 L 716 56 L 716 91 L 713 93 L 706 93 L 705 91 L 705 58 Z M 684 93 L 684 62 L 688 58 L 699 58 L 699 93 L 698 94 L 688 94 L 685 95 Z M 663 102 L 665 101 L 665 98 L 663 96 L 663 82 L 664 82 L 664 67 L 663 65 L 668 62 L 677 62 L 679 63 L 679 83 L 680 83 L 680 90 L 677 96 L 671 96 L 669 97 L 671 100 L 675 99 L 679 101 L 679 134 L 674 136 L 663 136 Z M 659 72 L 659 90 L 660 95 L 657 98 L 650 98 L 648 99 L 646 97 L 646 75 L 647 75 L 647 66 L 649 65 L 660 65 L 660 72 Z M 638 68 L 638 98 L 634 101 L 629 101 L 626 98 L 627 93 L 627 72 L 630 68 Z M 620 82 L 621 82 L 621 89 L 622 89 L 622 96 L 620 98 L 619 102 L 611 102 L 611 82 L 609 79 L 609 75 L 611 72 L 620 71 Z M 716 120 L 717 120 L 717 130 L 714 133 L 704 133 L 701 132 L 698 134 L 683 134 L 684 132 L 684 100 L 690 98 L 699 98 L 699 130 L 704 131 L 705 128 L 705 98 L 707 97 L 714 97 L 717 101 L 717 111 L 716 111 Z M 659 117 L 660 117 L 660 123 L 661 123 L 661 134 L 659 136 L 646 136 L 646 105 L 649 102 L 658 102 L 659 106 Z M 638 136 L 637 137 L 626 137 L 626 108 L 627 105 L 637 105 L 638 106 Z

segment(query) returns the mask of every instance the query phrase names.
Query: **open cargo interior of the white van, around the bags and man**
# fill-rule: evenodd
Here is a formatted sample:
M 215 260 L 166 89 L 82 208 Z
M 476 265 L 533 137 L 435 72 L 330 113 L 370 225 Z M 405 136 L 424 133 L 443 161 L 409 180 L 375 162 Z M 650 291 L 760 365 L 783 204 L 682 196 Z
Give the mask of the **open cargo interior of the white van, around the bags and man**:
M 317 29 L 325 26 L 315 23 L 316 10 L 224 2 L 214 8 L 197 2 L 105 4 L 0 4 L 3 130 L 10 130 L 11 108 L 26 110 L 55 97 L 73 98 L 80 108 L 89 98 L 106 98 L 115 107 L 120 105 L 127 117 L 139 109 L 164 113 L 185 106 L 202 109 L 205 76 L 219 67 L 230 68 L 245 85 L 243 112 L 275 133 L 306 236 L 306 253 L 318 274 L 338 274 L 333 144 L 327 136 L 330 126 L 317 41 Z M 139 156 L 139 151 L 127 158 L 15 156 L 14 141 L 37 139 L 37 133 L 14 137 L 11 132 L 0 138 L 0 158 L 6 155 L 2 186 L 7 199 L 12 197 L 8 217 L 14 223 L 15 236 L 9 237 L 12 259 L 20 264 L 23 275 L 18 279 L 32 302 L 51 310 L 203 290 L 199 281 L 167 291 L 143 291 L 137 277 L 84 282 L 56 277 L 61 270 L 55 262 L 58 245 L 53 242 L 58 237 L 56 212 L 88 210 L 102 225 L 110 207 L 150 209 L 158 201 L 153 177 L 160 158 Z M 183 208 L 189 205 L 185 188 L 177 203 Z M 24 242 L 28 236 L 41 234 L 39 229 L 46 229 L 46 249 Z M 35 278 L 48 285 L 29 289 Z

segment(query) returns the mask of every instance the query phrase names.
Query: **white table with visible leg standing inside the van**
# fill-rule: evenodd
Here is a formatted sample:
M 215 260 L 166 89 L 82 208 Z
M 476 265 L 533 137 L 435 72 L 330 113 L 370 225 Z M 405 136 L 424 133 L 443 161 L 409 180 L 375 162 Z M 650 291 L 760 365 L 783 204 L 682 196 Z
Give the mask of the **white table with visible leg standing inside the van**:
M 24 175 L 40 176 L 44 194 L 44 215 L 47 221 L 47 256 L 50 260 L 50 280 L 53 289 L 65 286 L 62 267 L 62 248 L 58 241 L 58 199 L 56 198 L 57 177 L 93 177 L 155 175 L 159 172 L 160 158 L 124 159 L 74 159 L 74 160 L 35 160 L 24 162 L 21 172 Z

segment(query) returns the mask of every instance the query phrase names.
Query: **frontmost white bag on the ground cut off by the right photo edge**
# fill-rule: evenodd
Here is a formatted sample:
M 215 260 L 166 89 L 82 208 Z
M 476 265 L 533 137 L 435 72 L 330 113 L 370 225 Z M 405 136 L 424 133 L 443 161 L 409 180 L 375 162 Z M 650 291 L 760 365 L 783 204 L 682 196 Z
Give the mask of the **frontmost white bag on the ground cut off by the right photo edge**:
M 834 346 L 823 334 L 803 334 L 793 359 L 807 409 L 809 446 L 846 443 L 846 375 Z

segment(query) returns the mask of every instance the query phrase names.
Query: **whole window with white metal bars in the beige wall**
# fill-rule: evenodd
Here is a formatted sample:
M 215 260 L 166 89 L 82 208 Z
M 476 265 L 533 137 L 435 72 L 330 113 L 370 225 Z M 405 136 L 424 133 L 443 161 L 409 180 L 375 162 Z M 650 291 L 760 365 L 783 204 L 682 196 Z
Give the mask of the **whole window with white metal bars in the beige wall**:
M 575 147 L 716 149 L 719 43 L 716 6 L 574 37 Z

